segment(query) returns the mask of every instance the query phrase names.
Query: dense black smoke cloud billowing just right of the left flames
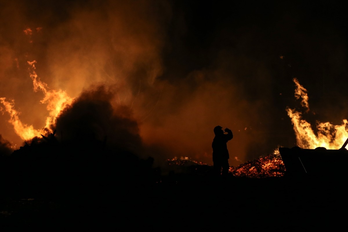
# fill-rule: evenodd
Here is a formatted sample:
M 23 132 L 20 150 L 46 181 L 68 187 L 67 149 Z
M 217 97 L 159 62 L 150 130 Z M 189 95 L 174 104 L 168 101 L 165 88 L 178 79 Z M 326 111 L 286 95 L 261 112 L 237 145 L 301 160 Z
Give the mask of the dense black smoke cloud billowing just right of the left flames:
M 141 155 L 139 127 L 132 111 L 125 105 L 111 105 L 114 95 L 104 86 L 82 92 L 65 109 L 56 123 L 56 137 L 75 146 L 89 146 L 98 141 L 101 149 L 126 151 Z M 97 154 L 95 154 L 97 155 Z

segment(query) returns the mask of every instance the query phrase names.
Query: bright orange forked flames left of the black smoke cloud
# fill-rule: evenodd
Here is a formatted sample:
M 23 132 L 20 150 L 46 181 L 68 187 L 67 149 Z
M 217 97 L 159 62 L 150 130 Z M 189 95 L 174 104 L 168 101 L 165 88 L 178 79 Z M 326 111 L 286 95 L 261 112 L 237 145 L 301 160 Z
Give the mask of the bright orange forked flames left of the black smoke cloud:
M 55 125 L 58 115 L 73 102 L 73 98 L 69 97 L 65 91 L 61 89 L 58 91 L 50 90 L 47 84 L 40 80 L 35 72 L 36 61 L 28 61 L 27 63 L 31 66 L 30 77 L 33 80 L 33 89 L 35 92 L 41 90 L 44 93 L 44 98 L 40 102 L 47 104 L 47 110 L 49 111 L 44 128 L 37 130 L 32 125 L 22 123 L 19 119 L 20 112 L 14 109 L 14 101 L 6 101 L 5 97 L 0 98 L 0 102 L 5 106 L 5 111 L 10 115 L 9 123 L 13 125 L 16 134 L 25 141 L 39 137 L 41 134 L 52 133 L 52 127 Z

